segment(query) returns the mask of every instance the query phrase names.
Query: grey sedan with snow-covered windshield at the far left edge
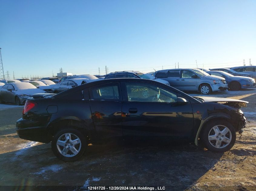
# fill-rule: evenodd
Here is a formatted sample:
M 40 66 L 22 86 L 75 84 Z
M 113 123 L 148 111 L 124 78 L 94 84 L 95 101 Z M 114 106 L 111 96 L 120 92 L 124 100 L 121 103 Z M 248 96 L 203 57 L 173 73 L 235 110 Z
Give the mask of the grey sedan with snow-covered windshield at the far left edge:
M 5 84 L 0 88 L 0 103 L 9 102 L 21 105 L 37 93 L 46 92 L 27 82 Z

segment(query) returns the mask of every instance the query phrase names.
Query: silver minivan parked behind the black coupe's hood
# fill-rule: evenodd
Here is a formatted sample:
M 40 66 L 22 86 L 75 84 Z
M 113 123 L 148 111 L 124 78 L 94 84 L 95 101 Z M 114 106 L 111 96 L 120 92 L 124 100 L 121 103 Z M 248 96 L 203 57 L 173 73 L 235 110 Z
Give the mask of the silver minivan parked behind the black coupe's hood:
M 196 68 L 159 70 L 154 75 L 181 91 L 201 91 L 202 94 L 210 94 L 213 91 L 228 89 L 224 79 L 219 80 Z

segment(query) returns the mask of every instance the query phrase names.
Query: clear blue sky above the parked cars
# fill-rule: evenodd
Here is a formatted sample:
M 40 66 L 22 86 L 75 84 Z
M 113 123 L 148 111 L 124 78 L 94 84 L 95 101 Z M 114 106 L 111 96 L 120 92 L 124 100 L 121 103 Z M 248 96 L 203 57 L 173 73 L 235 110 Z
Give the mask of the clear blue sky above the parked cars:
M 256 1 L 0 0 L 4 71 L 15 78 L 256 61 Z

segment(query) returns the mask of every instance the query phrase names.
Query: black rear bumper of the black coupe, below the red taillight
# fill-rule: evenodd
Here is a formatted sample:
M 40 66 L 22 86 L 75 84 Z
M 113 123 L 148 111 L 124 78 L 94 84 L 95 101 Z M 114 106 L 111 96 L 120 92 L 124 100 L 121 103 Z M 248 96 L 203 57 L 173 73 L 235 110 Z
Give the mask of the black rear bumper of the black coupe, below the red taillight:
M 19 119 L 16 122 L 16 132 L 19 138 L 48 143 L 51 140 L 48 138 L 48 132 L 45 126 L 38 126 L 39 122 Z

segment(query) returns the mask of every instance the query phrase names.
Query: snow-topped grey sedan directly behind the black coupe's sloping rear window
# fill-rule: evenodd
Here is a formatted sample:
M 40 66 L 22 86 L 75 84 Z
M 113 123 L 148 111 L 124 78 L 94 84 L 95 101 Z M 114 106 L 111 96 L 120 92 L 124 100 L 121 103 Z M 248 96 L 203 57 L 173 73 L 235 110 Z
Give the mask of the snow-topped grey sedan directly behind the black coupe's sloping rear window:
M 69 79 L 69 80 L 64 80 L 52 87 L 52 93 L 58 94 L 62 91 L 68 90 L 70 88 L 74 88 L 81 84 L 89 83 L 91 81 L 95 81 L 95 80 L 89 80 L 87 78 L 73 78 L 73 79 Z

